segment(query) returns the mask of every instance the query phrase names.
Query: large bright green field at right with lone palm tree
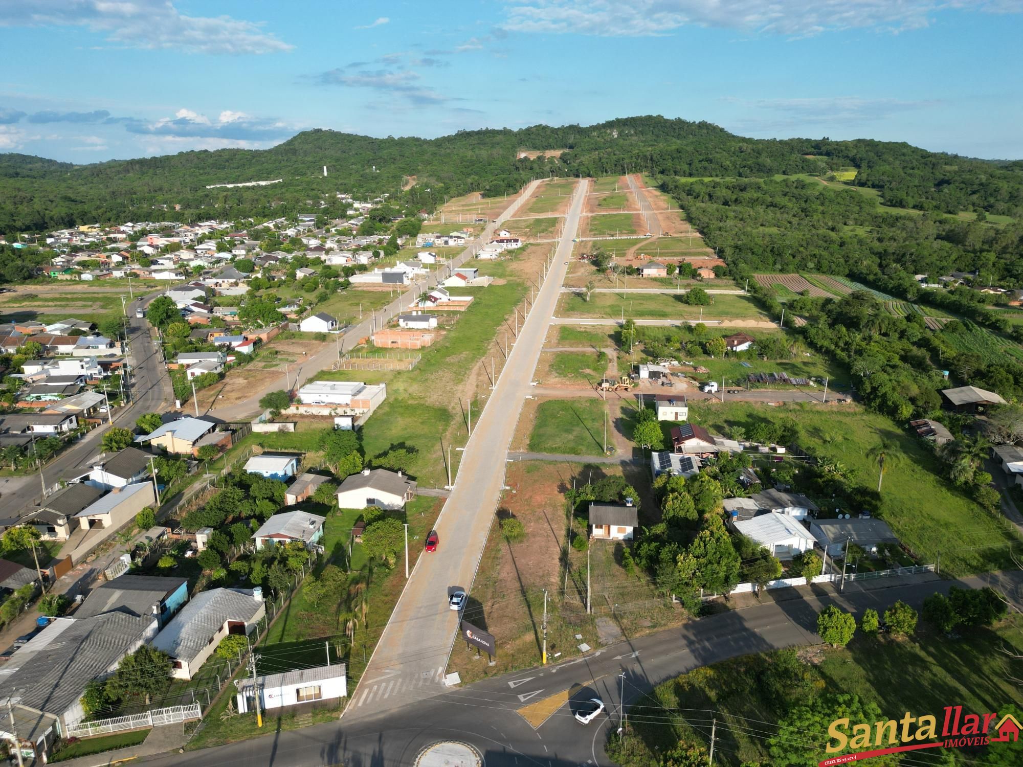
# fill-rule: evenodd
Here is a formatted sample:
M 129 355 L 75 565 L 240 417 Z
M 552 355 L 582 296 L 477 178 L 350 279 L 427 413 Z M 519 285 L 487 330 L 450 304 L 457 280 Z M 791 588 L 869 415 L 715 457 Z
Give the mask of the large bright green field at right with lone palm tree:
M 1014 567 L 1000 515 L 992 516 L 938 473 L 927 443 L 877 413 L 832 410 L 811 405 L 765 409 L 750 403 L 692 403 L 690 420 L 726 434 L 731 425 L 749 427 L 758 419 L 792 417 L 802 430 L 801 447 L 812 455 L 841 462 L 850 481 L 877 488 L 877 458 L 872 448 L 890 443 L 879 516 L 924 563 L 941 555 L 941 572 L 965 575 Z

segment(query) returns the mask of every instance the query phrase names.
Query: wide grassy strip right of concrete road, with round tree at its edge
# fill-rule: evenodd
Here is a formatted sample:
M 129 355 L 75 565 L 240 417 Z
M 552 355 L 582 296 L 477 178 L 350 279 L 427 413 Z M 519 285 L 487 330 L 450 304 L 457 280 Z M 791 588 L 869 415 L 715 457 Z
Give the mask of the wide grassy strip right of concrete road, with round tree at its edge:
M 757 319 L 769 318 L 747 296 L 711 296 L 709 306 L 690 306 L 669 294 L 594 292 L 587 302 L 581 295 L 565 294 L 558 304 L 559 317 L 621 319 Z

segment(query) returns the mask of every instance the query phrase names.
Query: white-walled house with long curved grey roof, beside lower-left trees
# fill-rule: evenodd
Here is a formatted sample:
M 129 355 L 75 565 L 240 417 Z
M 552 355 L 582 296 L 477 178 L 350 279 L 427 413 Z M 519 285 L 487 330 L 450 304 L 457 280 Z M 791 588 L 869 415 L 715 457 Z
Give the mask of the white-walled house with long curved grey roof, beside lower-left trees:
M 171 657 L 171 676 L 191 679 L 221 639 L 251 634 L 265 615 L 262 589 L 202 591 L 157 634 L 152 646 Z

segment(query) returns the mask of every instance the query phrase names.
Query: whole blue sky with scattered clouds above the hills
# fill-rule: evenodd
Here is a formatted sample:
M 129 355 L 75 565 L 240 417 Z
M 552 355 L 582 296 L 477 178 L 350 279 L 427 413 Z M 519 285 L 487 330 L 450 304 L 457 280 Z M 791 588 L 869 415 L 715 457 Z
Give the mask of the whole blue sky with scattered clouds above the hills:
M 1023 0 L 0 0 L 0 151 L 706 120 L 1023 157 Z

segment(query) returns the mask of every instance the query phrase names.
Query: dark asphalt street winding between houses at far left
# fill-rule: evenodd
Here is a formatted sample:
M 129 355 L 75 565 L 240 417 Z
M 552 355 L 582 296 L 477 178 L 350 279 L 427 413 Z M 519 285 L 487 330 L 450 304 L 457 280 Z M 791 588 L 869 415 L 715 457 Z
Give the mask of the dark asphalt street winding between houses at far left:
M 161 361 L 160 352 L 151 334 L 149 323 L 135 318 L 135 310 L 144 306 L 160 292 L 138 298 L 128 305 L 128 337 L 131 345 L 129 362 L 132 367 L 131 393 L 133 402 L 127 408 L 114 413 L 115 425 L 134 427 L 135 419 L 142 413 L 163 412 L 167 403 L 173 403 L 173 388 Z M 104 421 L 74 447 L 69 448 L 56 459 L 43 467 L 43 479 L 47 489 L 52 490 L 56 482 L 73 468 L 87 463 L 99 453 L 99 442 L 109 427 Z M 41 495 L 39 473 L 28 477 L 11 477 L 0 483 L 0 515 L 19 516 L 31 511 Z

